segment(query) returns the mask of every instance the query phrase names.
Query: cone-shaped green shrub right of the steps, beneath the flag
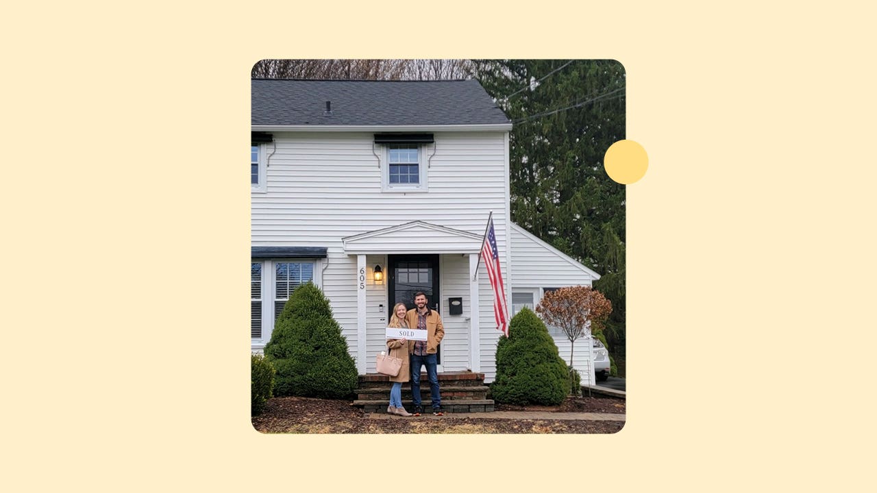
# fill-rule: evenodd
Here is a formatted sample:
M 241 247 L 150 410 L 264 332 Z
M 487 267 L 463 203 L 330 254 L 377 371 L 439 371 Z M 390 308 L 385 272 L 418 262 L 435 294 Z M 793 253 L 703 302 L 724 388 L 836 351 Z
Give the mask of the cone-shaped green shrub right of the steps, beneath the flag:
M 548 329 L 524 308 L 509 324 L 509 337 L 496 344 L 494 400 L 505 404 L 557 405 L 567 397 L 567 363 L 560 358 Z

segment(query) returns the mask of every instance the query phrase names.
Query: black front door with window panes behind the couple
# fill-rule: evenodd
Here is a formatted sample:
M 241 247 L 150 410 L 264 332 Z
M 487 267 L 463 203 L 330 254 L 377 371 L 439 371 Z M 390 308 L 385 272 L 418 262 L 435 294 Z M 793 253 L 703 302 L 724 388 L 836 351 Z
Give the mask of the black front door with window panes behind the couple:
M 389 255 L 389 315 L 396 303 L 415 308 L 414 295 L 426 293 L 431 310 L 439 311 L 439 255 Z M 441 311 L 439 311 L 441 313 Z M 437 359 L 441 364 L 441 345 Z

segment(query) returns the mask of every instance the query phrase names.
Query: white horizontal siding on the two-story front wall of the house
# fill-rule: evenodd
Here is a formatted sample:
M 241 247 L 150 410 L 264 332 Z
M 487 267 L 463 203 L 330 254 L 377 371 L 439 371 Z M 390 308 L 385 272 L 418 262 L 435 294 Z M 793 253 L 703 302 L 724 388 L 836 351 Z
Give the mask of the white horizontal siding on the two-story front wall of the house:
M 342 238 L 374 232 L 413 221 L 423 221 L 469 232 L 481 238 L 490 211 L 494 212 L 496 243 L 503 259 L 503 276 L 508 247 L 508 169 L 505 132 L 436 132 L 436 153 L 428 166 L 428 193 L 383 193 L 381 168 L 374 153 L 381 155 L 381 146 L 374 146 L 374 132 L 275 132 L 276 150 L 271 157 L 268 192 L 251 195 L 251 231 L 253 247 L 327 247 L 328 257 L 322 275 L 322 289 L 332 304 L 332 313 L 342 328 L 350 354 L 358 358 L 356 255 L 346 253 Z M 432 146 L 424 156 L 428 160 Z M 387 162 L 381 159 L 381 167 Z M 471 250 L 471 239 L 442 235 L 436 231 L 412 231 L 406 252 L 441 248 L 455 252 Z M 443 246 L 441 239 L 446 239 Z M 439 239 L 439 242 L 436 240 Z M 378 240 L 380 241 L 380 240 Z M 431 243 L 432 242 L 432 243 Z M 481 246 L 474 240 L 475 250 Z M 358 245 L 360 247 L 360 245 Z M 380 263 L 387 268 L 386 255 L 394 252 L 367 253 L 367 371 L 374 371 L 374 351 L 383 345 L 383 331 L 389 319 L 387 282 L 374 285 L 371 269 Z M 374 254 L 373 254 L 374 253 Z M 454 254 L 442 255 L 443 262 Z M 460 257 L 460 266 L 453 262 L 450 271 L 440 270 L 442 318 L 446 315 L 449 296 L 468 299 L 467 260 Z M 444 265 L 444 264 L 443 264 Z M 466 275 L 457 271 L 463 269 Z M 508 279 L 508 277 L 506 277 Z M 481 266 L 481 333 L 496 338 L 493 328 L 492 295 L 488 277 Z M 506 288 L 508 292 L 508 287 Z M 450 294 L 458 293 L 458 294 Z M 431 300 L 432 302 L 432 300 Z M 377 311 L 378 304 L 384 312 Z M 446 357 L 454 368 L 467 366 L 467 356 L 460 356 L 459 340 L 466 338 L 468 325 L 464 317 L 455 316 L 453 331 L 446 333 Z M 460 322 L 462 321 L 462 322 Z M 447 322 L 446 322 L 447 326 Z M 485 328 L 487 327 L 487 328 Z M 446 332 L 447 329 L 446 329 Z M 493 347 L 481 341 L 481 359 L 493 360 Z M 492 364 L 492 362 L 491 362 Z M 450 370 L 450 367 L 445 367 Z M 465 369 L 465 368 L 462 368 Z M 492 378 L 492 375 L 491 375 Z

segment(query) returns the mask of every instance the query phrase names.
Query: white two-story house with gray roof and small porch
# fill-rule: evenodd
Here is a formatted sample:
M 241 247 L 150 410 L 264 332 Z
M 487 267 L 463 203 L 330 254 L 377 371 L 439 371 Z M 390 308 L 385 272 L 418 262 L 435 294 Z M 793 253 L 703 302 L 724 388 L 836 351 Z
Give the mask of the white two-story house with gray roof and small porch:
M 289 293 L 313 281 L 360 375 L 374 373 L 391 307 L 424 291 L 445 325 L 439 372 L 492 382 L 502 332 L 476 268 L 491 211 L 512 313 L 545 289 L 599 279 L 510 222 L 510 130 L 474 80 L 253 80 L 253 351 Z M 568 341 L 553 335 L 566 360 Z M 594 377 L 588 347 L 576 342 L 582 383 Z

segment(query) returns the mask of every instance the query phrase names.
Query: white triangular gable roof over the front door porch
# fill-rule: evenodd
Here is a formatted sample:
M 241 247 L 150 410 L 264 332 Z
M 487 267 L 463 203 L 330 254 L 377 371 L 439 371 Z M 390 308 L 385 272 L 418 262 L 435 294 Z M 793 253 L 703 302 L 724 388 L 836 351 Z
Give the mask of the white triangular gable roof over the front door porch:
M 483 237 L 474 232 L 411 221 L 341 240 L 346 254 L 477 254 Z

